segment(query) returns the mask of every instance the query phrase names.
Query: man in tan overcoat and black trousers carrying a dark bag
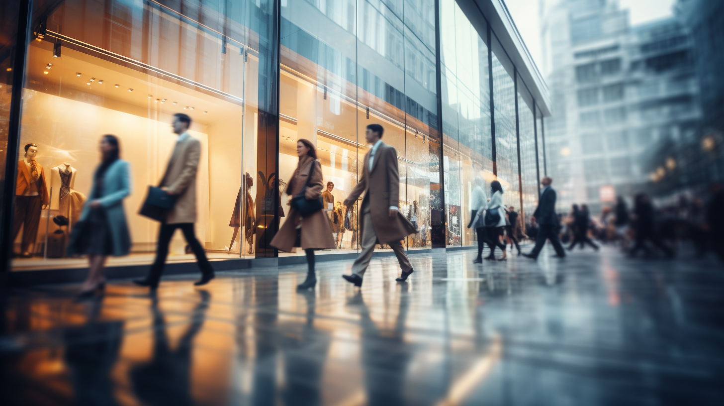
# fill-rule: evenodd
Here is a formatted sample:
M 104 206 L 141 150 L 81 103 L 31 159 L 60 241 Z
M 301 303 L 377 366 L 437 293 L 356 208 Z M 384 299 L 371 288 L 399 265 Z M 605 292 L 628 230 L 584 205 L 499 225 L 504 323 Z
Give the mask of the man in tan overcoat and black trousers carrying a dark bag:
M 156 289 L 159 286 L 164 264 L 169 254 L 169 243 L 177 228 L 180 228 L 186 242 L 193 251 L 201 268 L 201 280 L 193 283 L 196 286 L 205 285 L 214 278 L 214 269 L 206 258 L 206 252 L 195 236 L 193 223 L 196 222 L 196 171 L 198 160 L 201 157 L 201 142 L 188 133 L 191 117 L 177 113 L 174 115 L 172 128 L 179 138 L 176 141 L 174 152 L 169 159 L 169 166 L 161 179 L 161 189 L 168 194 L 176 196 L 174 207 L 169 210 L 166 220 L 159 229 L 159 242 L 156 249 L 156 260 L 144 279 L 136 279 L 134 283 L 140 286 L 150 286 Z

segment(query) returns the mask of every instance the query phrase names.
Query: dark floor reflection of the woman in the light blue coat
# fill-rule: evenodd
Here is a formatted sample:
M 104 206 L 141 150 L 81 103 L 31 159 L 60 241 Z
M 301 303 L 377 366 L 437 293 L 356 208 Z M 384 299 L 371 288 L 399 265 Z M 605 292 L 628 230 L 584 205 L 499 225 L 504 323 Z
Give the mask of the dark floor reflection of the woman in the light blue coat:
M 64 361 L 70 370 L 75 405 L 119 405 L 111 370 L 123 337 L 122 321 L 99 321 L 102 300 L 93 301 L 88 323 L 63 334 Z

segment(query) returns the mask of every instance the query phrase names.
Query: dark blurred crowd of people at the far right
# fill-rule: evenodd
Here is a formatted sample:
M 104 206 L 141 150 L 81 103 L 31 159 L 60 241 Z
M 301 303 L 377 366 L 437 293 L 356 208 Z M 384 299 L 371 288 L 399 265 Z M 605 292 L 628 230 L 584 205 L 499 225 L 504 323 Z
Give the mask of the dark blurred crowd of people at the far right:
M 682 247 L 691 247 L 696 257 L 712 252 L 724 261 L 724 186 L 714 183 L 705 196 L 678 196 L 671 204 L 657 206 L 652 197 L 640 193 L 631 207 L 618 197 L 592 218 L 585 204 L 573 204 L 567 215 L 558 215 L 560 241 L 568 249 L 586 245 L 598 249 L 593 240 L 613 244 L 631 257 L 639 252 L 674 257 Z M 534 231 L 535 225 L 526 227 Z

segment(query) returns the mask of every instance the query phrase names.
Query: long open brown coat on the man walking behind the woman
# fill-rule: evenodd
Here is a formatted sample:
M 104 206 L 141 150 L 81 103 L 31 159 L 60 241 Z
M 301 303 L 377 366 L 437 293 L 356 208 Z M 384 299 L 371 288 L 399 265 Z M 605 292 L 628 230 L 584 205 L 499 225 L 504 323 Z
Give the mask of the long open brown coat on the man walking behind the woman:
M 394 146 L 379 144 L 369 170 L 369 154 L 364 156 L 362 178 L 350 191 L 348 201 L 356 200 L 362 192 L 364 199 L 362 205 L 369 203 L 372 215 L 372 226 L 377 235 L 378 244 L 387 244 L 391 241 L 400 241 L 406 236 L 416 232 L 415 227 L 405 216 L 397 210 L 397 217 L 390 218 L 390 207 L 400 204 L 400 172 L 397 169 L 397 150 Z M 369 200 L 369 202 L 365 202 Z M 360 215 L 360 231 L 364 216 Z M 359 241 L 362 241 L 360 236 Z

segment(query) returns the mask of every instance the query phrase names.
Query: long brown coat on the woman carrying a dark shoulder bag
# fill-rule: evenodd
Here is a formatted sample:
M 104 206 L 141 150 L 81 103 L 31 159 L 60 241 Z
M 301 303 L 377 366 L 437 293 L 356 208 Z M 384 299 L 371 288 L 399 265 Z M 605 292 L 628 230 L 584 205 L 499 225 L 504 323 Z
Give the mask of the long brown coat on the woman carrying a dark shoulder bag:
M 311 176 L 309 181 L 311 192 L 310 195 L 321 196 L 322 174 L 321 165 L 315 162 L 311 157 L 306 157 L 295 170 L 292 179 L 287 183 L 284 193 L 288 196 L 296 196 L 304 190 L 307 177 Z M 313 170 L 312 170 L 313 169 Z M 311 173 L 310 173 L 311 172 Z M 328 249 L 336 247 L 332 238 L 332 223 L 327 217 L 327 212 L 319 210 L 319 212 L 310 215 L 307 218 L 301 218 L 297 210 L 291 207 L 287 221 L 279 228 L 277 235 L 271 240 L 271 245 L 285 252 L 294 250 L 294 242 L 297 239 L 297 225 L 302 224 L 301 246 L 302 249 Z

